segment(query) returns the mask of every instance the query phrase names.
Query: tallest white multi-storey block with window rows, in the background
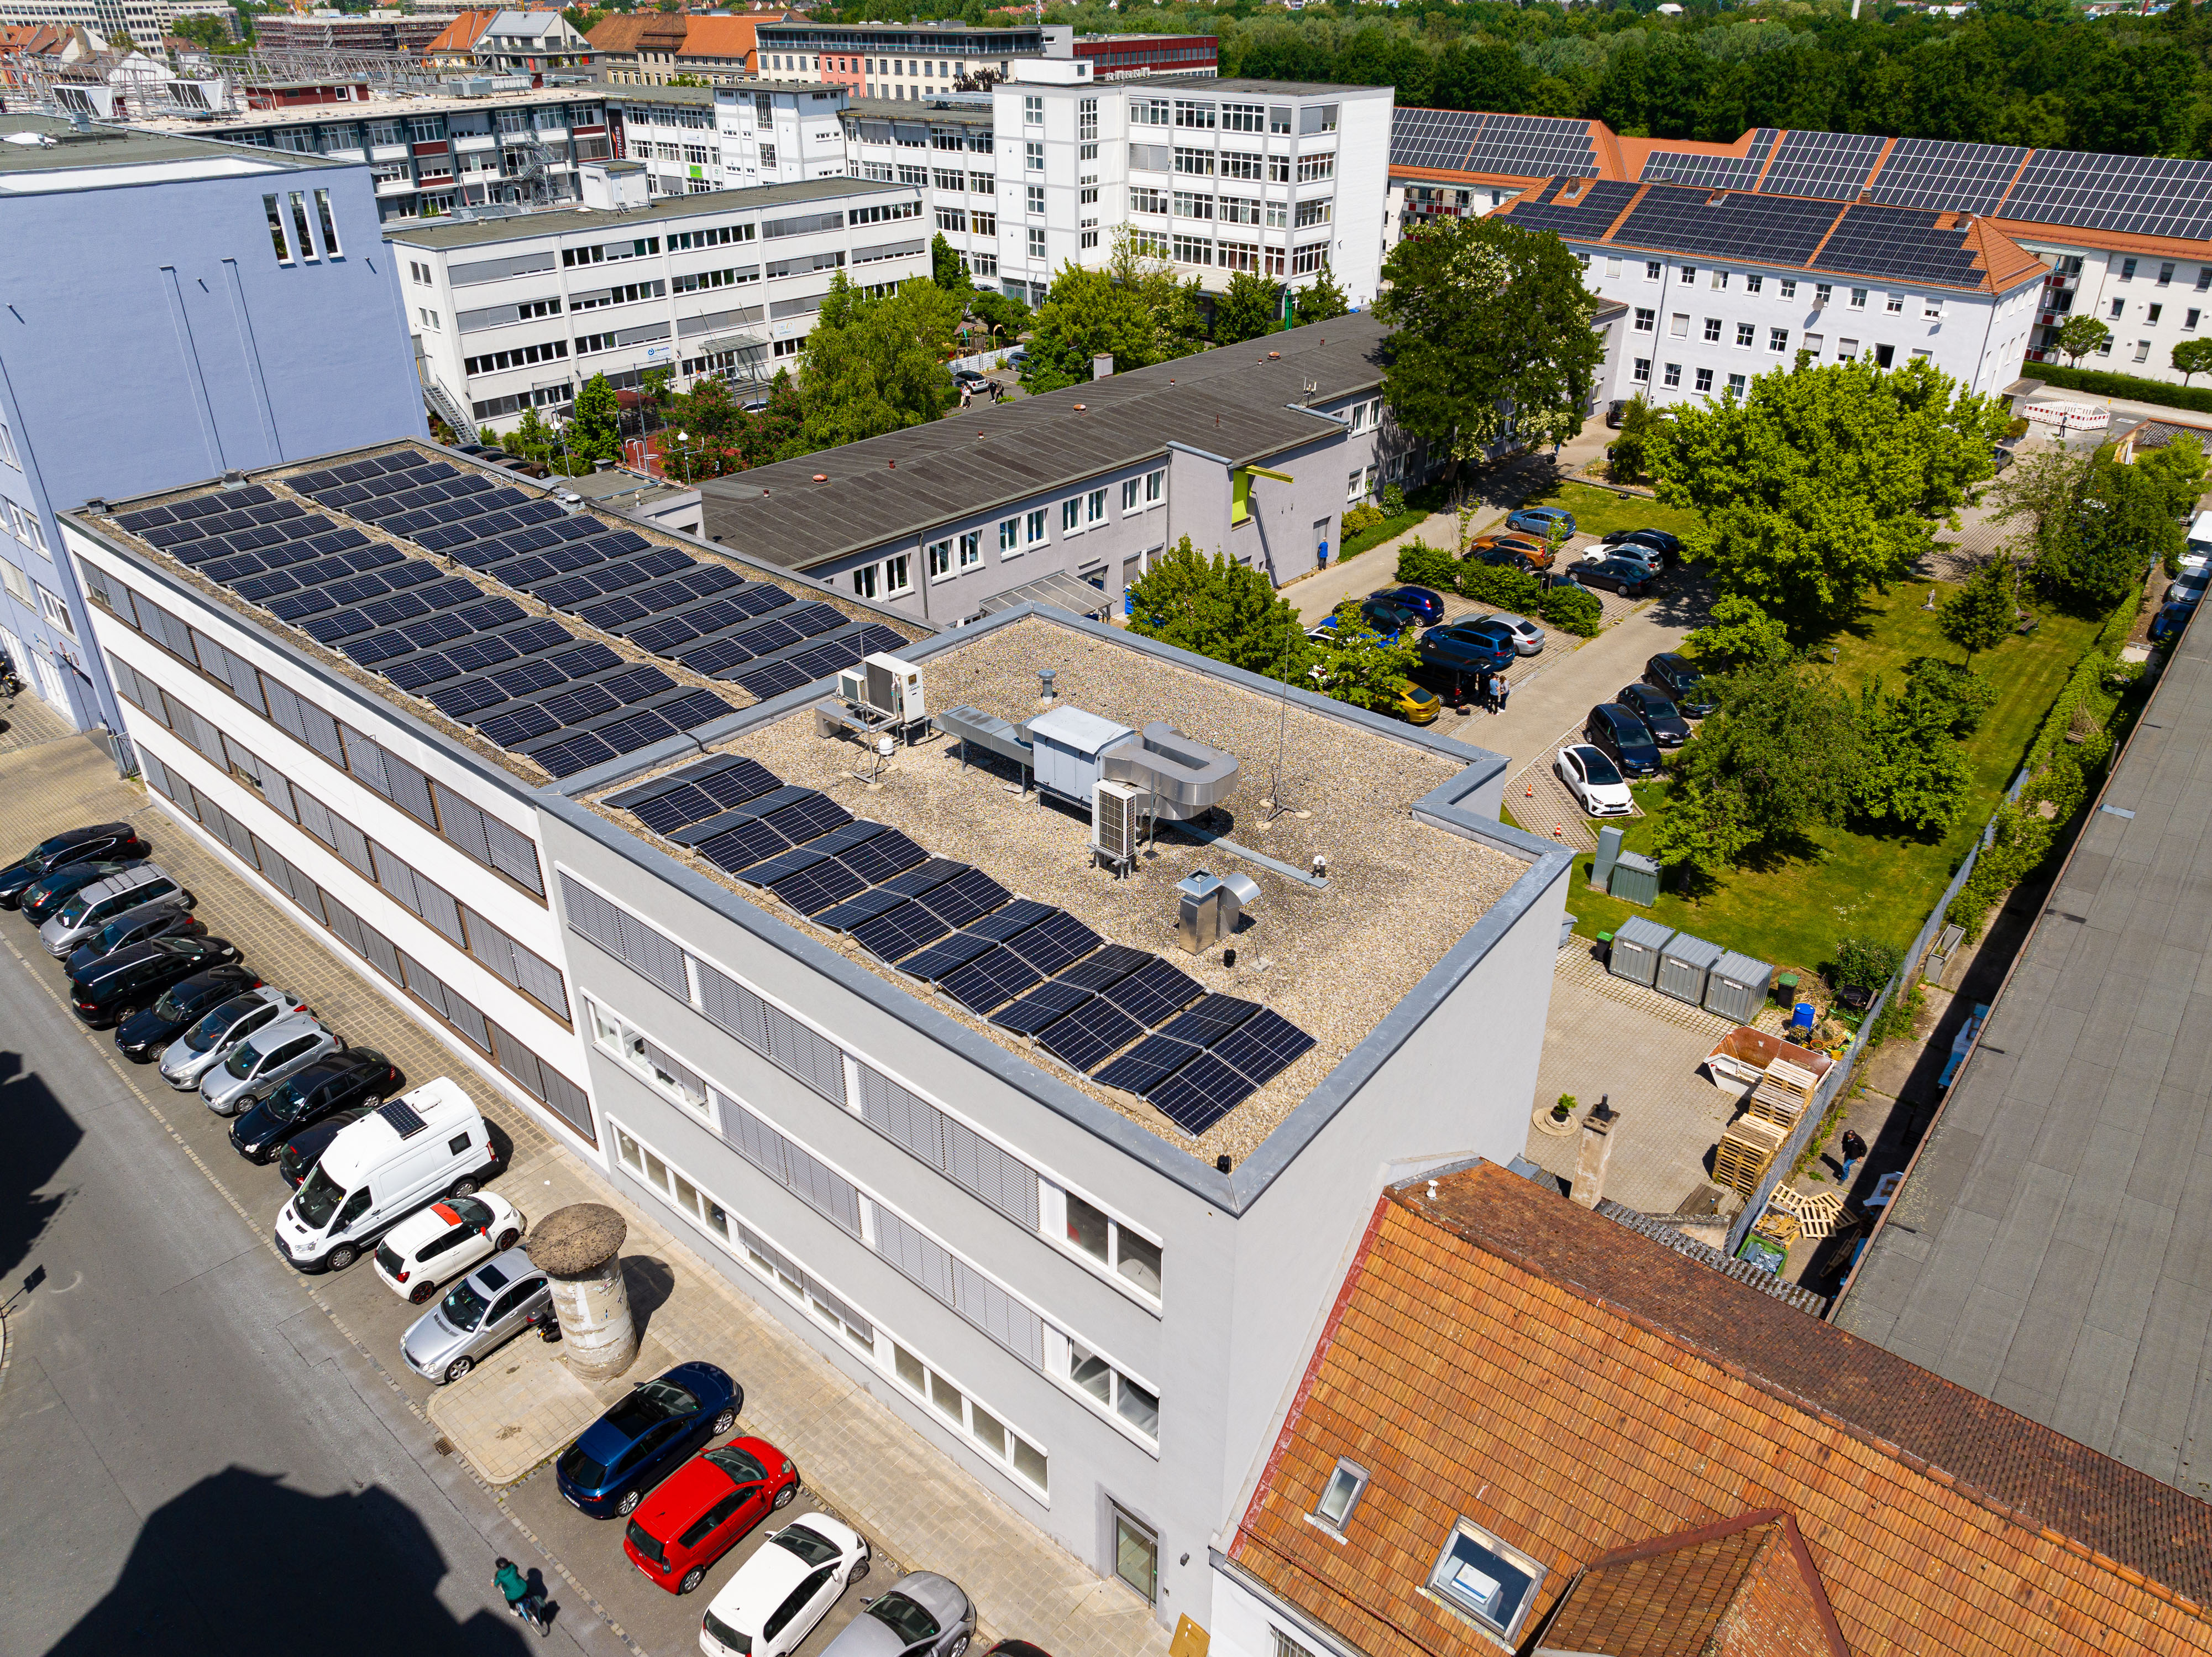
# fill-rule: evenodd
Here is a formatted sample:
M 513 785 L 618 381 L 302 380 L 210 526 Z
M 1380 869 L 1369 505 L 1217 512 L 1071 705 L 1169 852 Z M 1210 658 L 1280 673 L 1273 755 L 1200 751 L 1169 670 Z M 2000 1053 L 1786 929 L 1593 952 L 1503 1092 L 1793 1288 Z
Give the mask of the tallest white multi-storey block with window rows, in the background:
M 1102 265 L 1128 223 L 1208 292 L 1239 270 L 1303 288 L 1327 265 L 1354 305 L 1374 301 L 1389 86 L 1097 84 L 1088 71 L 1022 62 L 991 88 L 1009 294 L 1040 303 L 1055 270 Z

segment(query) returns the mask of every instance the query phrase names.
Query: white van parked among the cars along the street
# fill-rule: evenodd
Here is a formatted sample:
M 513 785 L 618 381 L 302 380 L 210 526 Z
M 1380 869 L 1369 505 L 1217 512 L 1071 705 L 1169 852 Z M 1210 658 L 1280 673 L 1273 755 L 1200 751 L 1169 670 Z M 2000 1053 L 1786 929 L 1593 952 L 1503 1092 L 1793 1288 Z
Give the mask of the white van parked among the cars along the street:
M 416 1208 L 467 1197 L 498 1166 L 484 1117 L 440 1075 L 341 1128 L 276 1215 L 276 1248 L 303 1272 L 343 1272 Z

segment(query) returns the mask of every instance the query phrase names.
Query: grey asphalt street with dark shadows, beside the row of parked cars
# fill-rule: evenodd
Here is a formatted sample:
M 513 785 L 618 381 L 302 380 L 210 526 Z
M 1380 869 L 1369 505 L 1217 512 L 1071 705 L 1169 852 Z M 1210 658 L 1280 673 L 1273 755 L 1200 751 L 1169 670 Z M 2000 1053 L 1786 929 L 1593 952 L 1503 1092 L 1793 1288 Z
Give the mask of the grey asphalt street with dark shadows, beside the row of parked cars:
M 624 1650 L 507 1615 L 493 1555 L 544 1555 L 155 1115 L 197 1102 L 148 1108 L 0 940 L 0 1650 Z

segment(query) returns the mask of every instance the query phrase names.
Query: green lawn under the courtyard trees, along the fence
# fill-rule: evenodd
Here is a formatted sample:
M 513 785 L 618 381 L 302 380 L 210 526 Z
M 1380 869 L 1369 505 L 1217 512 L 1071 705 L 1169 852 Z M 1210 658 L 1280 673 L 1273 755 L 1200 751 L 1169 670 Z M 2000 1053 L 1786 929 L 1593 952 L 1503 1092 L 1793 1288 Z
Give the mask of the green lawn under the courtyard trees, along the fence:
M 1936 615 L 1920 608 L 1924 597 L 1927 582 L 1920 582 L 1896 588 L 1887 600 L 1874 600 L 1851 628 L 1832 639 L 1836 675 L 1858 688 L 1876 673 L 1896 681 L 1905 664 L 1918 655 L 1955 659 L 1958 650 L 1936 631 Z M 1876 838 L 1816 827 L 1790 854 L 1763 867 L 1736 869 L 1703 898 L 1661 892 L 1648 914 L 1661 925 L 1798 971 L 1814 971 L 1829 960 L 1845 934 L 1880 938 L 1902 949 L 1997 807 L 2044 712 L 2095 633 L 2095 622 L 2053 615 L 2028 637 L 2006 639 L 1975 659 L 1975 668 L 1997 686 L 1997 704 L 1966 741 L 1975 783 L 1966 821 L 1942 841 Z M 1628 823 L 1630 852 L 1650 850 L 1663 801 L 1663 785 L 1637 790 L 1646 816 Z M 1584 856 L 1577 861 L 1566 900 L 1577 931 L 1613 931 L 1628 916 L 1646 914 L 1590 892 L 1588 878 L 1590 858 Z

